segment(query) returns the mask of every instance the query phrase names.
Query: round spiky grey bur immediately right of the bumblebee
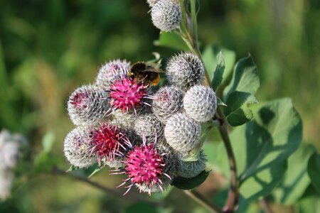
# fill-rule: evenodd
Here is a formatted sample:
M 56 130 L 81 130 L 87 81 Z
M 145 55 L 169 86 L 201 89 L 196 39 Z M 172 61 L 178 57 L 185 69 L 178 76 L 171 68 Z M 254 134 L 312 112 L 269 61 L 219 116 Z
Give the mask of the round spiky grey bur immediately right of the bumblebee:
M 171 84 L 187 91 L 204 79 L 204 67 L 198 56 L 193 53 L 180 53 L 170 58 L 166 65 L 166 76 Z

